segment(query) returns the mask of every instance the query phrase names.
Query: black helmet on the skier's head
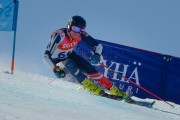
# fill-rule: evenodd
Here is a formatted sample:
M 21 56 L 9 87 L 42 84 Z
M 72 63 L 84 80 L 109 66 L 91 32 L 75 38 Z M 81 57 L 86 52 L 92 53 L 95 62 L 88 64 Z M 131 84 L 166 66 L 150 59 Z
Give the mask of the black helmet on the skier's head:
M 86 21 L 81 16 L 75 15 L 71 17 L 68 21 L 68 25 L 67 25 L 68 30 L 71 30 L 72 26 L 77 26 L 82 29 L 85 29 Z

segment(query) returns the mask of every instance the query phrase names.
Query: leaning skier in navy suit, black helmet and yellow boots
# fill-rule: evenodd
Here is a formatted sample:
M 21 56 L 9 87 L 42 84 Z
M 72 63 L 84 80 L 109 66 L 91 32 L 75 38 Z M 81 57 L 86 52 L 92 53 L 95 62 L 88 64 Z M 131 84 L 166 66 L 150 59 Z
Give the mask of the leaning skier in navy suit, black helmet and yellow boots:
M 101 87 L 94 84 L 93 79 L 111 95 L 126 97 L 126 93 L 121 92 L 117 86 L 90 64 L 100 62 L 103 46 L 91 37 L 85 28 L 86 21 L 84 18 L 78 15 L 71 17 L 66 28 L 58 29 L 52 33 L 51 41 L 44 53 L 44 61 L 58 78 L 64 78 L 67 72 L 70 72 L 92 94 L 107 95 Z M 89 58 L 90 63 L 73 51 L 81 40 L 91 46 L 94 51 L 94 54 Z

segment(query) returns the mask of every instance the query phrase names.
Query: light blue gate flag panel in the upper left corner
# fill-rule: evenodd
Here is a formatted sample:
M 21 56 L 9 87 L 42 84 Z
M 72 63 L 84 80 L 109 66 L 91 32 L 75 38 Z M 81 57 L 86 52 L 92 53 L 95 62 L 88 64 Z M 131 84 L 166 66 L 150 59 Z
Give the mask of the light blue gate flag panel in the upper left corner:
M 16 0 L 0 0 L 0 31 L 12 31 L 16 29 L 16 2 Z

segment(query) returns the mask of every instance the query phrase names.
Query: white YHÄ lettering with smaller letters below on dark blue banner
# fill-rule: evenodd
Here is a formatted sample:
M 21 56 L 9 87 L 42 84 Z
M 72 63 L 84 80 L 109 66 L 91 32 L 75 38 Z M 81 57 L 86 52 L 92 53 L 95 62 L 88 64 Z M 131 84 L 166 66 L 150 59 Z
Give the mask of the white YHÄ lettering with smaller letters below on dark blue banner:
M 101 62 L 107 66 L 107 60 L 101 59 Z M 137 85 L 140 85 L 138 67 L 141 66 L 141 63 L 134 61 L 133 65 L 134 66 L 131 66 L 131 69 L 130 69 L 130 65 L 128 64 L 111 62 L 110 65 L 107 66 L 108 68 L 104 68 L 104 76 L 109 79 L 112 79 L 113 81 L 115 81 L 115 83 L 117 82 L 119 89 L 128 91 L 130 94 L 138 93 L 138 90 L 139 90 L 138 88 L 133 87 L 132 85 L 127 85 L 129 84 L 129 82 L 125 80 L 125 78 L 120 76 L 122 75 L 124 77 L 127 77 L 129 80 L 132 80 Z M 121 70 L 120 70 L 120 67 L 121 67 Z M 110 69 L 113 69 L 115 72 L 112 72 Z M 117 72 L 120 75 L 118 75 Z M 127 73 L 129 76 L 127 76 Z M 111 74 L 111 77 L 108 76 L 108 74 Z

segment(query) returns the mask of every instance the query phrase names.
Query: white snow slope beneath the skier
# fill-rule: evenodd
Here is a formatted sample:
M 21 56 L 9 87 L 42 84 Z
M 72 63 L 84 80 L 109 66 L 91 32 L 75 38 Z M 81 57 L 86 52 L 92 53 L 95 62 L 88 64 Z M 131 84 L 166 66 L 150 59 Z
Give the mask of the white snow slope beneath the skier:
M 156 100 L 149 109 L 89 94 L 68 79 L 0 71 L 0 120 L 180 120 L 180 105 Z

